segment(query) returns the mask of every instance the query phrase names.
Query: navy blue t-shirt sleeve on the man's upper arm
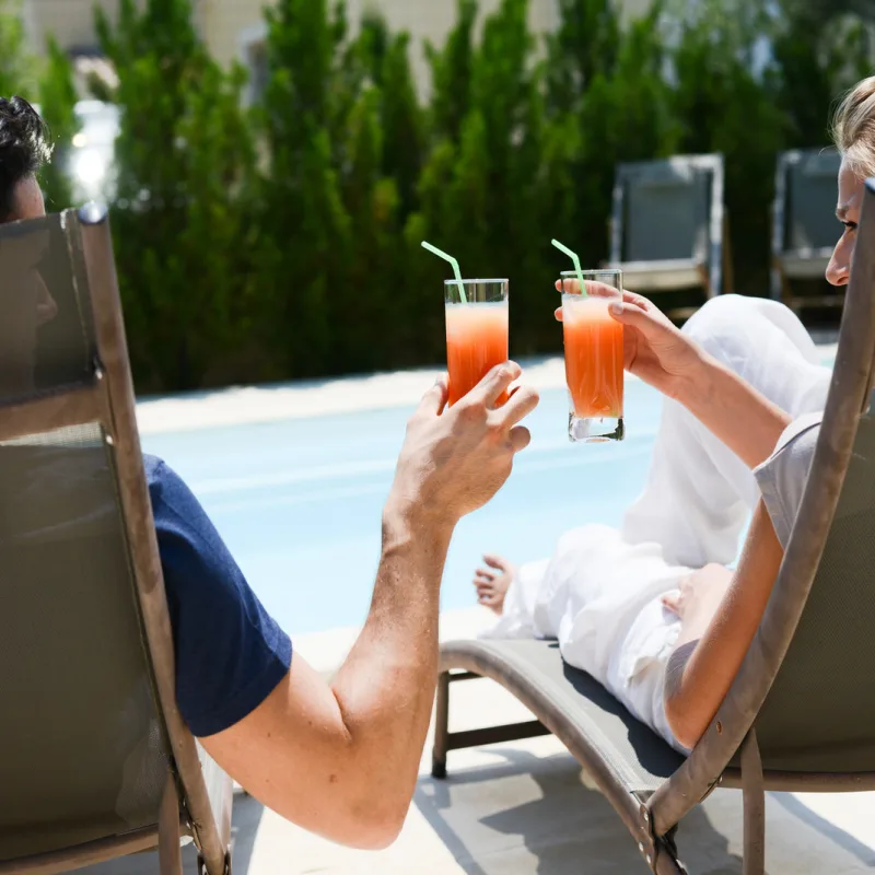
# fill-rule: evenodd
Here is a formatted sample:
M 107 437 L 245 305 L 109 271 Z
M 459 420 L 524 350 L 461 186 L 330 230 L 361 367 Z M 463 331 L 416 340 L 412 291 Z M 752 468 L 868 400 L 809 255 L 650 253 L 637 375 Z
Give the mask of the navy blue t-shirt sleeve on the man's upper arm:
M 200 503 L 143 458 L 176 653 L 176 700 L 200 737 L 233 726 L 285 677 L 292 644 L 265 610 Z

